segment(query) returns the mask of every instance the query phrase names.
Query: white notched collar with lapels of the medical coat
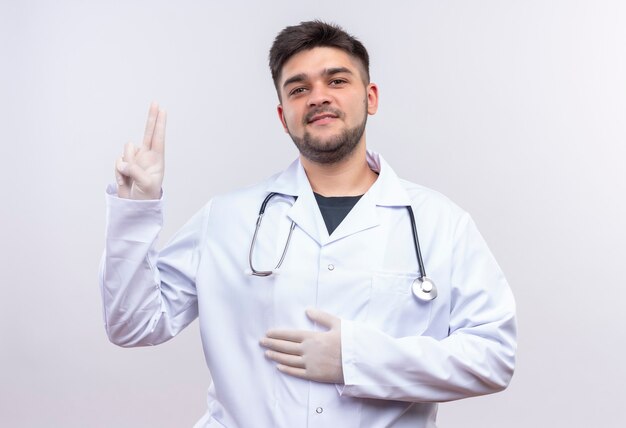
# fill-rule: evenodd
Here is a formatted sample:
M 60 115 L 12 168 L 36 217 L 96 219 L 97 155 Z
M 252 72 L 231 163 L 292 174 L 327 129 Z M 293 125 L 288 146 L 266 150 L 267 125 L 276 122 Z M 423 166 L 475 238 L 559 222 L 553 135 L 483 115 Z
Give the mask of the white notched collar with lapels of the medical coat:
M 296 197 L 287 215 L 299 228 L 320 245 L 326 245 L 346 236 L 378 226 L 377 206 L 406 206 L 409 196 L 396 173 L 378 153 L 368 151 L 367 163 L 379 174 L 372 187 L 363 195 L 348 216 L 328 235 L 326 224 L 306 176 L 304 167 L 296 159 L 267 187 L 268 192 Z

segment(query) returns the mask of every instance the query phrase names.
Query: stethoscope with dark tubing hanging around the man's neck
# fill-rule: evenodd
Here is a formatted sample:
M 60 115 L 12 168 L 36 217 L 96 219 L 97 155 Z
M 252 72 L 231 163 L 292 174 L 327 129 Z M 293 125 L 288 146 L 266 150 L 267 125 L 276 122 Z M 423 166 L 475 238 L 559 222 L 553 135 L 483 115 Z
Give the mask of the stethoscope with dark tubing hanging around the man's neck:
M 287 235 L 287 242 L 285 243 L 285 248 L 283 249 L 283 253 L 280 256 L 280 260 L 278 260 L 278 264 L 273 270 L 256 270 L 252 264 L 252 254 L 254 253 L 254 246 L 256 244 L 257 236 L 259 234 L 259 229 L 261 227 L 261 220 L 263 219 L 263 214 L 265 214 L 265 208 L 267 207 L 268 202 L 274 196 L 278 195 L 276 192 L 272 192 L 265 197 L 263 203 L 261 204 L 261 209 L 259 210 L 259 217 L 256 220 L 256 227 L 254 229 L 254 235 L 252 235 L 252 243 L 250 244 L 250 253 L 248 255 L 248 262 L 250 264 L 250 270 L 252 275 L 254 276 L 270 276 L 275 271 L 280 268 L 285 260 L 285 256 L 287 255 L 287 250 L 289 249 L 289 243 L 291 242 L 291 236 L 293 235 L 293 230 L 296 228 L 296 223 L 294 221 L 291 222 L 291 226 L 289 227 L 289 235 Z M 297 197 L 296 197 L 297 198 Z M 426 277 L 426 269 L 424 268 L 424 260 L 422 259 L 422 250 L 419 244 L 419 238 L 417 237 L 417 226 L 415 225 L 415 216 L 413 215 L 413 208 L 410 205 L 406 206 L 407 211 L 409 212 L 409 218 L 411 219 L 411 229 L 413 232 L 413 244 L 415 246 L 415 254 L 417 255 L 417 264 L 420 269 L 420 276 L 413 280 L 413 285 L 411 286 L 411 291 L 413 295 L 422 301 L 430 301 L 437 297 L 437 287 L 435 283 L 428 277 Z

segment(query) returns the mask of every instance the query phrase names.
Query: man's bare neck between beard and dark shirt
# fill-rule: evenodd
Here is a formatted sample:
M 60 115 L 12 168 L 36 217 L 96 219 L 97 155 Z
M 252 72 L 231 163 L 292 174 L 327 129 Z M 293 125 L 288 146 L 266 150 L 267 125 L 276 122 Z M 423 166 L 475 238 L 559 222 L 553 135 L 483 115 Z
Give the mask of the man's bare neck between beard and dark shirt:
M 367 164 L 365 142 L 336 164 L 319 164 L 300 156 L 311 188 L 322 196 L 358 196 L 374 184 L 378 175 Z

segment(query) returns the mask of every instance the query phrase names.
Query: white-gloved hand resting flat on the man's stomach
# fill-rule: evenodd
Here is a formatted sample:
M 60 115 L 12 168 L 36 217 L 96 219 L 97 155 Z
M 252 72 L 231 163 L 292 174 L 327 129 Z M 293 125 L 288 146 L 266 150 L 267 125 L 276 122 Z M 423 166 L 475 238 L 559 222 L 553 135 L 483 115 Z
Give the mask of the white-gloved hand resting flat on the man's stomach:
M 270 330 L 260 342 L 267 348 L 265 355 L 288 375 L 343 384 L 341 319 L 319 309 L 307 309 L 306 314 L 329 330 Z

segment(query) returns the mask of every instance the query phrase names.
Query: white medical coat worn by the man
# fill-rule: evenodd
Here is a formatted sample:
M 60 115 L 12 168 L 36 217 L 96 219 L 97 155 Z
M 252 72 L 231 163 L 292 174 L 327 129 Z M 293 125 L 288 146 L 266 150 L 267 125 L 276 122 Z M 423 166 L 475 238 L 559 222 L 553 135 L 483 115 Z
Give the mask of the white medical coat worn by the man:
M 101 270 L 106 331 L 121 346 L 155 345 L 196 317 L 212 384 L 197 427 L 435 427 L 437 402 L 504 389 L 513 373 L 515 303 L 469 215 L 399 179 L 376 153 L 374 185 L 328 235 L 299 161 L 256 186 L 213 198 L 157 252 L 162 201 L 107 195 Z M 269 203 L 249 274 L 261 202 Z M 284 196 L 282 196 L 284 195 Z M 294 196 L 297 199 L 294 202 Z M 428 276 L 419 274 L 406 205 Z M 341 318 L 345 385 L 279 372 L 259 340 L 271 328 L 315 330 L 305 309 Z

